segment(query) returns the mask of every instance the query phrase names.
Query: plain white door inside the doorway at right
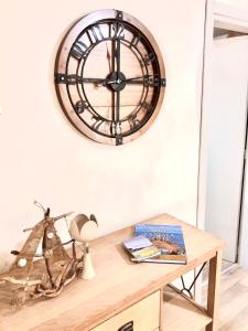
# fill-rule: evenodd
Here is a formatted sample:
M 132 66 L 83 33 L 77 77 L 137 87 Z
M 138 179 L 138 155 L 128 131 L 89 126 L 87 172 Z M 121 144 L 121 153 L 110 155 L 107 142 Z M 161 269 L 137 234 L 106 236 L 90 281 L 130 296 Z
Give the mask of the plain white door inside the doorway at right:
M 214 41 L 207 125 L 206 229 L 236 261 L 247 126 L 248 36 Z

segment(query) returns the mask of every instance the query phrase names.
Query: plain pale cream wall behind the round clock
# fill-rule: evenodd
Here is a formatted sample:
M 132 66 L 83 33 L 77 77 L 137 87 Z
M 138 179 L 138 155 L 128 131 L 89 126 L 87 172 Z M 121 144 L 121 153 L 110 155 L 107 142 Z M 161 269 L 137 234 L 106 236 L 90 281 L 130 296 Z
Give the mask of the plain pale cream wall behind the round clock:
M 204 2 L 2 1 L 0 265 L 25 239 L 22 228 L 40 220 L 35 199 L 54 215 L 95 213 L 100 235 L 163 212 L 195 224 Z M 127 11 L 150 29 L 168 74 L 158 119 L 141 138 L 121 147 L 78 134 L 53 85 L 54 58 L 66 29 L 105 8 Z

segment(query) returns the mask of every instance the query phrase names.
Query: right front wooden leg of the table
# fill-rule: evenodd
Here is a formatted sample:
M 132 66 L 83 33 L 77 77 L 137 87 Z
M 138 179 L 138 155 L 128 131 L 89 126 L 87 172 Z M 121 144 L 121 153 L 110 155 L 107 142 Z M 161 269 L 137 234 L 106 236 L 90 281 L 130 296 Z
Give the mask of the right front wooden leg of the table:
M 222 268 L 222 250 L 209 260 L 208 289 L 207 289 L 207 312 L 212 322 L 206 327 L 206 331 L 217 330 L 217 310 L 219 300 L 219 279 Z

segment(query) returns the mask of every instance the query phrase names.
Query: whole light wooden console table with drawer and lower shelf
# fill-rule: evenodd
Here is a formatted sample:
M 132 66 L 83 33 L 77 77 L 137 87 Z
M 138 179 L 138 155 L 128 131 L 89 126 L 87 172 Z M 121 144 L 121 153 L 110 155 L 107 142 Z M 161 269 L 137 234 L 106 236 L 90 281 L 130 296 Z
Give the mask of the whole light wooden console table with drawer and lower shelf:
M 60 297 L 10 311 L 0 290 L 0 330 L 118 331 L 126 322 L 133 322 L 134 331 L 217 330 L 223 241 L 166 214 L 147 223 L 182 225 L 187 265 L 133 264 L 122 247 L 133 227 L 114 232 L 91 244 L 97 276 L 75 280 Z M 208 260 L 206 310 L 172 288 L 164 293 L 168 284 Z

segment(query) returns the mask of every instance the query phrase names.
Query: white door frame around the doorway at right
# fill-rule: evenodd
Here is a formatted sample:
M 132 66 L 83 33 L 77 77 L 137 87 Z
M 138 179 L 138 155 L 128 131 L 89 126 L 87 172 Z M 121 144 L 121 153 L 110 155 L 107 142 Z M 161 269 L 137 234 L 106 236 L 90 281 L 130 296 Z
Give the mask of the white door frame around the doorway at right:
M 248 10 L 240 9 L 236 6 L 224 4 L 215 0 L 206 0 L 206 21 L 205 21 L 205 44 L 203 60 L 203 81 L 202 81 L 202 109 L 201 109 L 201 129 L 200 129 L 200 160 L 198 160 L 198 194 L 196 220 L 197 227 L 205 228 L 206 221 L 206 182 L 207 182 L 207 127 L 208 127 L 208 100 L 209 100 L 209 82 L 214 28 L 233 30 L 248 33 Z M 248 174 L 247 174 L 248 175 Z M 248 182 L 248 179 L 247 179 Z M 246 179 L 244 181 L 246 183 Z M 248 191 L 248 183 L 247 183 Z M 244 190 L 245 192 L 245 190 Z M 248 196 L 245 196 L 247 199 Z M 247 194 L 248 195 L 248 194 Z M 239 258 L 238 263 L 248 268 L 248 207 L 241 210 L 241 226 L 239 232 Z M 245 222 L 246 221 L 246 222 Z

